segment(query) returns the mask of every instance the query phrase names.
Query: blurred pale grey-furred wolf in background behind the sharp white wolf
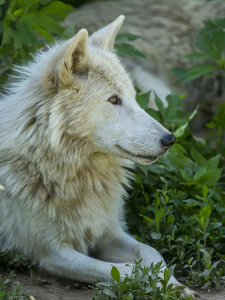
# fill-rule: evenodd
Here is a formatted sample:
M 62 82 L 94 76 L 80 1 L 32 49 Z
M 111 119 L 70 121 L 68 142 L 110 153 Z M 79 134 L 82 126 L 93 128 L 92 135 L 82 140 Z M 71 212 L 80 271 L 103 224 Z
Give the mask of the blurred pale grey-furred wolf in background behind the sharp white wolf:
M 221 76 L 204 76 L 187 86 L 173 85 L 177 78 L 171 69 L 192 65 L 185 55 L 196 52 L 196 31 L 202 28 L 204 20 L 225 16 L 225 1 L 94 1 L 71 13 L 63 26 L 73 25 L 75 30 L 84 27 L 94 31 L 121 13 L 126 16 L 121 32 L 139 35 L 141 38 L 133 44 L 149 58 L 126 57 L 126 65 L 137 79 L 136 84 L 143 92 L 154 89 L 165 105 L 171 89 L 181 94 L 188 93 L 185 108 L 192 111 L 197 103 L 200 105 L 198 116 L 192 121 L 192 130 L 198 132 L 209 121 L 215 106 L 225 101 L 225 80 Z M 154 97 L 151 97 L 150 105 L 157 108 Z

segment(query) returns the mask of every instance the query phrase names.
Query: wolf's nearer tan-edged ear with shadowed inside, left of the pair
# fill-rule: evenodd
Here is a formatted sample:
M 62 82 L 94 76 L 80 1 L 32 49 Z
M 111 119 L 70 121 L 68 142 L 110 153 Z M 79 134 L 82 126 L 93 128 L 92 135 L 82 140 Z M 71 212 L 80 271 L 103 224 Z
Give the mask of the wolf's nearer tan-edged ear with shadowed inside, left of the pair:
M 59 76 L 63 82 L 72 82 L 73 73 L 84 71 L 88 61 L 88 32 L 81 29 L 64 45 Z

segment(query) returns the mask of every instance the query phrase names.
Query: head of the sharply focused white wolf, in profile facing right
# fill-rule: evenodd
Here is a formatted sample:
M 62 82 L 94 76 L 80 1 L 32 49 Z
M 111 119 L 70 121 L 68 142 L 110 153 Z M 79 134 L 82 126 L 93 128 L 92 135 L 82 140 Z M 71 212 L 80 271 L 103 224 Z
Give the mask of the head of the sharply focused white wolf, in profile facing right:
M 85 141 L 91 153 L 150 164 L 176 138 L 137 104 L 133 83 L 113 52 L 123 20 L 119 16 L 91 37 L 81 29 L 47 52 L 41 64 L 42 86 L 53 95 L 50 141 L 54 147 L 66 136 Z

